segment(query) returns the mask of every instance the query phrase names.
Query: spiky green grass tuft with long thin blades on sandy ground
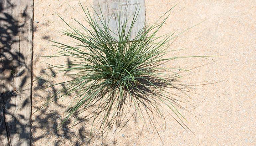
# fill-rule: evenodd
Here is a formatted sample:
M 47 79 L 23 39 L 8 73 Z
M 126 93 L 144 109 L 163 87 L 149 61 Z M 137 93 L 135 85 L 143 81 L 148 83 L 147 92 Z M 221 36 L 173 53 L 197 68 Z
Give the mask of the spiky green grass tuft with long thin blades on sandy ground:
M 125 19 L 121 19 L 120 12 L 113 14 L 117 24 L 116 33 L 108 28 L 109 20 L 103 18 L 103 14 L 92 15 L 88 8 L 82 9 L 89 28 L 74 19 L 82 28 L 78 29 L 62 19 L 69 27 L 64 35 L 78 43 L 68 45 L 52 41 L 60 51 L 57 55 L 48 56 L 66 56 L 72 60 L 68 64 L 50 67 L 57 73 L 65 72 L 66 76 L 71 77 L 71 80 L 47 86 L 63 85 L 56 93 L 58 98 L 73 96 L 62 123 L 77 112 L 96 107 L 88 117 L 93 119 L 92 125 L 99 125 L 103 134 L 115 124 L 116 127 L 120 126 L 129 112 L 124 108 L 127 106 L 134 109 L 132 115 L 138 114 L 143 120 L 148 120 L 153 129 L 157 129 L 155 124 L 160 126 L 160 123 L 155 116 L 164 121 L 162 108 L 166 106 L 174 113 L 174 116 L 170 115 L 186 131 L 189 130 L 183 122 L 184 117 L 177 110 L 177 107 L 182 108 L 180 101 L 169 90 L 182 92 L 181 86 L 173 84 L 180 76 L 172 71 L 175 68 L 165 68 L 163 64 L 178 58 L 205 56 L 164 58 L 168 53 L 168 43 L 177 35 L 156 34 L 165 24 L 171 9 L 152 25 L 141 28 L 134 38 L 131 37 L 132 29 L 139 9 L 135 10 L 135 15 Z M 56 95 L 49 97 L 41 108 L 56 100 L 53 98 Z

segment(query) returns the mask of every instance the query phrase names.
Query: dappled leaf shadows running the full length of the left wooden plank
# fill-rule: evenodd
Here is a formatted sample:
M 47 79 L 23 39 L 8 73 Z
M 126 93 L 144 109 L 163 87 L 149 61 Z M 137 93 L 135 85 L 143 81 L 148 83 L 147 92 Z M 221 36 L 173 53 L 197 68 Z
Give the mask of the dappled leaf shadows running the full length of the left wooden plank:
M 16 12 L 16 7 L 10 0 L 0 1 L 0 137 L 4 137 L 0 142 L 4 145 L 30 144 L 31 137 L 30 124 L 23 122 L 30 121 L 30 116 L 28 119 L 21 114 L 14 114 L 14 109 L 30 107 L 27 98 L 21 101 L 21 105 L 13 104 L 13 101 L 22 99 L 25 96 L 23 91 L 29 90 L 26 85 L 29 84 L 28 74 L 31 73 L 31 66 L 26 64 L 27 58 L 15 48 L 20 42 L 28 41 L 20 37 L 27 33 L 24 26 L 29 21 L 28 7 L 19 14 L 22 20 L 18 20 L 12 13 Z M 12 143 L 16 137 L 20 140 Z

